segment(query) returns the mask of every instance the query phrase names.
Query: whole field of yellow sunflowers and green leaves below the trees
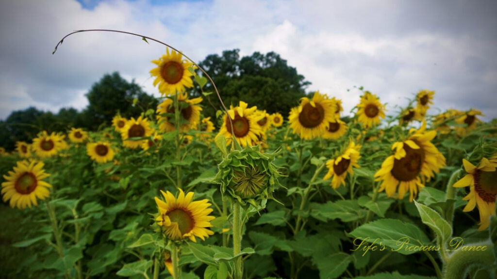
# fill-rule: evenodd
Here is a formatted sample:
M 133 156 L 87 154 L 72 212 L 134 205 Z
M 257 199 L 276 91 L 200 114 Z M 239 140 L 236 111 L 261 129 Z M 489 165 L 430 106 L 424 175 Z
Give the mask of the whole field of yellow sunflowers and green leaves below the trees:
M 479 110 L 361 87 L 350 113 L 317 91 L 210 118 L 191 94 L 206 72 L 169 48 L 152 63 L 156 110 L 1 150 L 0 278 L 496 277 L 497 123 Z

